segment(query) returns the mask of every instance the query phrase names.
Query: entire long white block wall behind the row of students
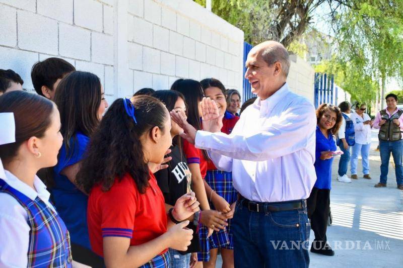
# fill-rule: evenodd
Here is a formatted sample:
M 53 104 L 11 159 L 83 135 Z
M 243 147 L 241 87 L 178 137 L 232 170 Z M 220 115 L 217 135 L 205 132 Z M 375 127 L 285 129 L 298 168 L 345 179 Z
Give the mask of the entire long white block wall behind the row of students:
M 177 78 L 242 92 L 243 32 L 191 0 L 0 0 L 0 68 L 33 90 L 32 65 L 61 57 L 97 74 L 109 102 Z

